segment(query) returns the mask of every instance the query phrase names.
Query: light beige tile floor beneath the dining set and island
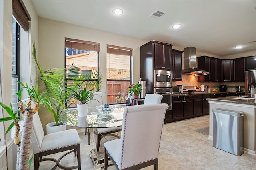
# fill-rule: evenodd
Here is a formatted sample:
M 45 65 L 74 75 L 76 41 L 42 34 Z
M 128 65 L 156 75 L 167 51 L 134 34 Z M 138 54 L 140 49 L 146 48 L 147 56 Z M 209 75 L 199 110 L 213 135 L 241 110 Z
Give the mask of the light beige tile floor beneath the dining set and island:
M 194 131 L 209 126 L 209 116 L 202 116 L 184 121 L 164 124 L 159 151 L 159 170 L 251 170 L 256 169 L 256 156 L 244 153 L 235 156 L 228 152 L 212 147 L 208 136 Z M 81 143 L 82 170 L 94 170 L 88 145 L 88 137 L 84 131 L 79 132 Z M 101 146 L 99 156 L 103 156 Z M 55 156 L 55 155 L 54 155 Z M 58 156 L 58 155 L 57 155 Z M 62 161 L 63 165 L 75 165 L 76 158 L 69 154 Z M 48 170 L 53 164 L 44 161 L 40 170 Z M 33 162 L 32 167 L 33 169 Z M 58 169 L 58 168 L 56 168 Z M 109 166 L 109 170 L 116 170 Z M 152 170 L 153 166 L 143 170 Z

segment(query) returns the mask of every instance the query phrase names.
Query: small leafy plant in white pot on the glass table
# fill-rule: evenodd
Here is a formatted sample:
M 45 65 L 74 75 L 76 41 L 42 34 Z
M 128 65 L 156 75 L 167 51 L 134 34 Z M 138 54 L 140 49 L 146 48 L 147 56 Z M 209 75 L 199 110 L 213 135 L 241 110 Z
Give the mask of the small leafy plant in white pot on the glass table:
M 66 99 L 66 103 L 69 103 L 70 101 L 74 102 L 74 99 L 77 100 L 78 116 L 79 117 L 87 116 L 88 102 L 93 100 L 93 96 L 95 93 L 93 92 L 94 88 L 92 88 L 91 90 L 86 90 L 86 88 L 84 88 L 78 91 L 72 88 L 64 88 L 64 90 L 72 91 L 70 96 Z

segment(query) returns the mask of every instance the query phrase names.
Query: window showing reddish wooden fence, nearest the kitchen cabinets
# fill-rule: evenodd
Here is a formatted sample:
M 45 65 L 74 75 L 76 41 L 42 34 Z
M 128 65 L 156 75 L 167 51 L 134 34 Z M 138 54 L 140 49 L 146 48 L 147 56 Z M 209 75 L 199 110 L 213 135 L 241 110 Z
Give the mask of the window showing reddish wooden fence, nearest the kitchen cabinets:
M 107 103 L 125 103 L 131 84 L 132 49 L 107 45 Z

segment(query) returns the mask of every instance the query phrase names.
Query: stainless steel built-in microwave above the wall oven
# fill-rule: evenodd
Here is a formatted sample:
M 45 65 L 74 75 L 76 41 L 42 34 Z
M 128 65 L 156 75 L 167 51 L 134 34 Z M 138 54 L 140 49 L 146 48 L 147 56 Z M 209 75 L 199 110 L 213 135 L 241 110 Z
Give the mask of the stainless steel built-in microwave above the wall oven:
M 154 87 L 172 87 L 172 72 L 154 70 Z

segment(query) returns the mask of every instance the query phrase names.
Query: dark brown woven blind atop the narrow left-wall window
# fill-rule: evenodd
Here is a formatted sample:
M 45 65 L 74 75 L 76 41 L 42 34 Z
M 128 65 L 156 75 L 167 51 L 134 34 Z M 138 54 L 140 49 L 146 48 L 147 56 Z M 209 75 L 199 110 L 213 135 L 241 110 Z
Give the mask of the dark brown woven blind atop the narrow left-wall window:
M 22 0 L 12 0 L 12 15 L 24 31 L 28 31 L 31 18 Z

